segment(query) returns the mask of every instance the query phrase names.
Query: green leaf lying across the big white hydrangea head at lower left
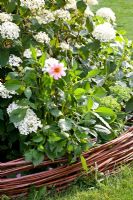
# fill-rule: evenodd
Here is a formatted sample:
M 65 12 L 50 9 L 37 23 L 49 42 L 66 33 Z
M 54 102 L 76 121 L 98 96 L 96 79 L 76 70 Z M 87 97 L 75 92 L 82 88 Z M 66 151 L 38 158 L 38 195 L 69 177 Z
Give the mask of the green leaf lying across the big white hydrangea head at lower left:
M 18 109 L 15 109 L 13 110 L 11 113 L 10 113 L 10 121 L 12 123 L 17 123 L 17 122 L 20 122 L 24 119 L 25 115 L 26 115 L 26 112 L 27 112 L 27 108 L 18 108 Z

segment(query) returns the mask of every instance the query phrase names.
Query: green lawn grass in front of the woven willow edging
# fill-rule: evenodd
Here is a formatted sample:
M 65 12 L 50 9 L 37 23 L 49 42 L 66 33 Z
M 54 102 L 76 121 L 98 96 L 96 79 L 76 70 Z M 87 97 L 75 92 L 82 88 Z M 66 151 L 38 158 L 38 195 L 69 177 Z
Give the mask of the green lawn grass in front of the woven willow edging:
M 88 180 L 89 181 L 89 180 Z M 47 200 L 133 200 L 133 168 L 123 167 L 121 172 L 98 183 L 95 189 L 73 186 L 72 189 Z

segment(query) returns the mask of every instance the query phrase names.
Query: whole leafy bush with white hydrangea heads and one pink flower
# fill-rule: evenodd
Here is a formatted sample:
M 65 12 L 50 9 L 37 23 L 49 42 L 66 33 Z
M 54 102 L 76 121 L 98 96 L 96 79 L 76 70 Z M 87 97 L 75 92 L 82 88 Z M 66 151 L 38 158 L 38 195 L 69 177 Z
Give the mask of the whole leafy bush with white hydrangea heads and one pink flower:
M 39 164 L 117 137 L 132 111 L 132 41 L 96 0 L 0 1 L 0 155 Z

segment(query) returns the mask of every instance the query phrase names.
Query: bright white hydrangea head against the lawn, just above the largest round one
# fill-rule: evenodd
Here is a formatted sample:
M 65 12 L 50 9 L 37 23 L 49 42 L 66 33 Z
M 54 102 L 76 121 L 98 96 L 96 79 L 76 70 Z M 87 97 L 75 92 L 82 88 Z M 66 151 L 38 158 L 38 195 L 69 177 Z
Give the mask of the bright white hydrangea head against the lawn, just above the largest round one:
M 115 13 L 112 11 L 111 8 L 100 8 L 96 12 L 97 16 L 103 17 L 107 20 L 112 20 L 113 22 L 116 20 Z

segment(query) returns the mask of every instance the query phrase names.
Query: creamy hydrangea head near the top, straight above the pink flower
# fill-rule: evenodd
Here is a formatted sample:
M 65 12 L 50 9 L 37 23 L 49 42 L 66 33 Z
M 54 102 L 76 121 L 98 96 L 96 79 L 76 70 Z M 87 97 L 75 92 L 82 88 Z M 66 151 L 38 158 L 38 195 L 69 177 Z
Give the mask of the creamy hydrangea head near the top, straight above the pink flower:
M 70 12 L 68 10 L 63 10 L 63 9 L 54 11 L 54 16 L 55 16 L 55 18 L 60 18 L 60 19 L 64 19 L 64 20 L 71 19 Z

